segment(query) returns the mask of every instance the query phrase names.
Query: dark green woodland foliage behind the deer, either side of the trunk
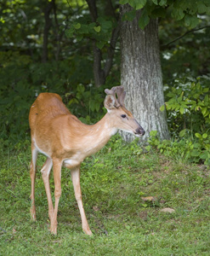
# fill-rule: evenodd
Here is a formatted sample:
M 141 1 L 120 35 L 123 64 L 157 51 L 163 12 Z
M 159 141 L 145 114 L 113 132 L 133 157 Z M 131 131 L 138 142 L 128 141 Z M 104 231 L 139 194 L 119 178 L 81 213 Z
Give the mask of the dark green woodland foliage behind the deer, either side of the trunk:
M 92 45 L 96 42 L 106 63 L 119 11 L 116 3 L 113 6 L 113 19 L 111 10 L 101 3 L 98 21 L 91 22 L 85 1 L 3 1 L 0 11 L 2 145 L 13 146 L 28 139 L 29 108 L 42 91 L 59 93 L 72 113 L 84 122 L 94 123 L 105 113 L 104 89 L 120 84 L 120 44 L 116 41 L 111 71 L 100 87 L 94 84 Z M 200 13 L 201 6 L 197 3 Z M 201 137 L 196 133 L 209 139 L 210 18 L 200 15 L 200 20 L 193 24 L 196 28 L 189 31 L 180 26 L 181 21 L 173 20 L 171 11 L 165 11 L 159 26 L 168 125 L 173 138 L 178 139 L 182 131 L 181 138 L 193 139 L 201 144 L 202 150 Z M 209 159 L 209 154 L 206 156 L 205 160 Z

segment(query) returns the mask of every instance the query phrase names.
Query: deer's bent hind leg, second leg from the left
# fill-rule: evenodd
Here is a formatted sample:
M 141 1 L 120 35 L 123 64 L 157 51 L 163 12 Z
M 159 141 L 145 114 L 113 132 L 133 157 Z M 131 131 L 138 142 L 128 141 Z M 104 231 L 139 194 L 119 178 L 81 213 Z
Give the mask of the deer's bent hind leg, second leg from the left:
M 50 174 L 52 166 L 53 166 L 53 160 L 51 160 L 48 157 L 43 165 L 42 170 L 41 170 L 42 177 L 43 177 L 43 183 L 44 183 L 45 191 L 46 191 L 47 198 L 48 198 L 48 217 L 50 218 L 50 220 L 53 218 L 53 215 L 54 215 L 54 205 L 53 205 L 50 187 L 49 187 L 49 174 Z

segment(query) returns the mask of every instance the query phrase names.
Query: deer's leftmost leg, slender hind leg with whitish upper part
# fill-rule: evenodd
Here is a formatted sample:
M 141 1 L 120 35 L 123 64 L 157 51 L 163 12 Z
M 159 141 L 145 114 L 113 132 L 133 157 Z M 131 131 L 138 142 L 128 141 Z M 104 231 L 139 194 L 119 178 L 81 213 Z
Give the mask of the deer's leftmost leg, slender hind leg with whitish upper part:
M 35 207 L 35 177 L 36 177 L 36 163 L 37 163 L 37 148 L 31 143 L 31 166 L 30 166 L 30 177 L 31 177 L 31 219 L 36 220 L 36 207 Z

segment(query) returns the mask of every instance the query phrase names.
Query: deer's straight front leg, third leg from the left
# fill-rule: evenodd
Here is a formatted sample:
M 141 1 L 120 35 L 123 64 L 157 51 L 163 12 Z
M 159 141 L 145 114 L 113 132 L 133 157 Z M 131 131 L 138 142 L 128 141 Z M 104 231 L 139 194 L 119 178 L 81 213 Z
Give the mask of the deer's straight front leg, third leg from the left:
M 56 235 L 57 234 L 57 214 L 59 208 L 59 201 L 61 195 L 61 166 L 62 162 L 60 160 L 53 160 L 54 165 L 54 213 L 52 218 L 50 219 L 50 231 Z

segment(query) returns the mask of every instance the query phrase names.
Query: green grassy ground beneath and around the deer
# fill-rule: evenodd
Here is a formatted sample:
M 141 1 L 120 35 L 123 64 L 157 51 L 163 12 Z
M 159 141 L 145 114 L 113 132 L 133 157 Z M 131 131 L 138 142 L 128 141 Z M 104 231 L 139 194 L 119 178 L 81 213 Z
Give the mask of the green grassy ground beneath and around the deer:
M 113 139 L 82 164 L 83 204 L 93 236 L 82 233 L 69 170 L 62 170 L 58 235 L 37 172 L 37 221 L 30 219 L 30 148 L 1 151 L 0 255 L 209 255 L 206 166 L 142 154 Z M 37 169 L 43 165 L 40 155 Z M 53 179 L 52 188 L 54 187 Z M 170 208 L 174 212 L 162 212 Z

